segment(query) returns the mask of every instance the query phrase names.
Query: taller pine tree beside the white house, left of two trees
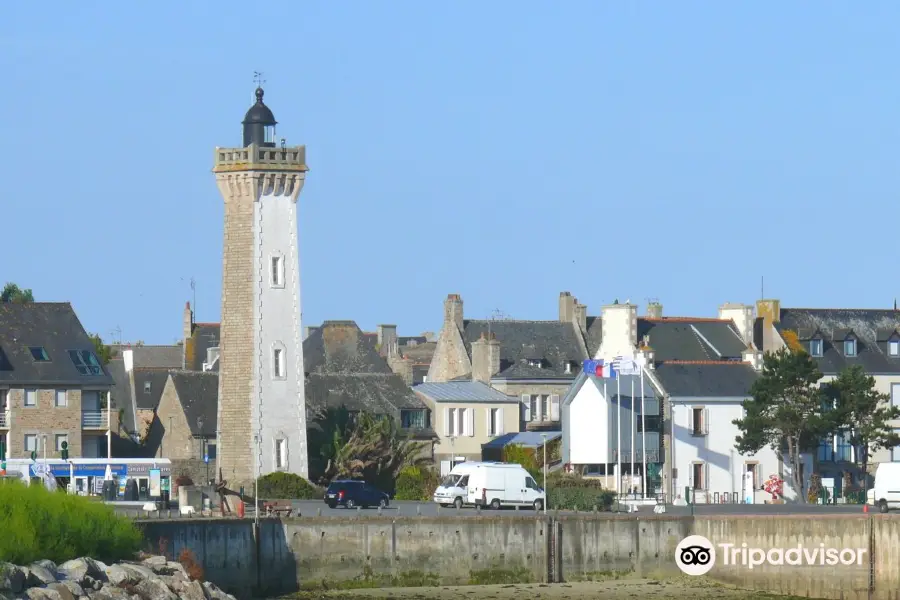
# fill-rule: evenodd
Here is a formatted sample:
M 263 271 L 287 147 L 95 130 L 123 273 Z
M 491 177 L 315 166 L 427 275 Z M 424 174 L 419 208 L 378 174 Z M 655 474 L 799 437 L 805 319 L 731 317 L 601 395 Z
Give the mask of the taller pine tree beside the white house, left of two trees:
M 825 414 L 819 387 L 822 372 L 806 352 L 782 348 L 763 357 L 759 379 L 744 402 L 745 416 L 734 424 L 740 429 L 735 447 L 756 453 L 768 446 L 791 467 L 793 489 L 803 489 L 800 455 L 818 446 L 833 430 L 833 415 Z M 806 498 L 798 496 L 801 501 Z

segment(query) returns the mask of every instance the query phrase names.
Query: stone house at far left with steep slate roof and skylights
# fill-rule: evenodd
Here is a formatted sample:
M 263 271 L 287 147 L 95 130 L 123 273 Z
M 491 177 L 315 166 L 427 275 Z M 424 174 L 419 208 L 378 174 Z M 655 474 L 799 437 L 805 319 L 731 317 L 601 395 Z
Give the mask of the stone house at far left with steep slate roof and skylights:
M 67 302 L 0 304 L 0 442 L 9 458 L 102 458 L 118 431 L 113 379 Z

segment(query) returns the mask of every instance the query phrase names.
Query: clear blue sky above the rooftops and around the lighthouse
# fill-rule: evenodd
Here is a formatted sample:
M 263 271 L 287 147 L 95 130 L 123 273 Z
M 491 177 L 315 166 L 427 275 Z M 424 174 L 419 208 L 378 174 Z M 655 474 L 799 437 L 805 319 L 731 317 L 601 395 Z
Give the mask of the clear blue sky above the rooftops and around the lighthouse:
M 787 306 L 889 308 L 898 22 L 887 1 L 6 2 L 0 279 L 170 343 L 193 276 L 218 320 L 213 147 L 240 143 L 261 70 L 307 145 L 307 324 L 436 330 L 448 293 L 553 319 L 562 290 L 712 316 L 761 275 Z

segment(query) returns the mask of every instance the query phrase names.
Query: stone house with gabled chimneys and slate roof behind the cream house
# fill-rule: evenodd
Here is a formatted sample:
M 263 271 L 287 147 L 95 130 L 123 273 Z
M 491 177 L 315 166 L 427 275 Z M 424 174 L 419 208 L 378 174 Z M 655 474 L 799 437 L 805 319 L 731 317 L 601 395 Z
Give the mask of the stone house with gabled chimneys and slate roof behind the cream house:
M 466 319 L 462 298 L 450 294 L 428 382 L 481 381 L 519 398 L 522 430 L 559 430 L 560 398 L 599 340 L 599 319 L 569 292 L 555 321 Z

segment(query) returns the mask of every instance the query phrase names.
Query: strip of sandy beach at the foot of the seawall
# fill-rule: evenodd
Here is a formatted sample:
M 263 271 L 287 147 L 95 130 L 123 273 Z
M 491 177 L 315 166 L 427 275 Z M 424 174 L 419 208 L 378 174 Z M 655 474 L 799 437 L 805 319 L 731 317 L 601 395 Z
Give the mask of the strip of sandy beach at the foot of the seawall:
M 626 579 L 561 584 L 469 585 L 460 587 L 380 588 L 303 592 L 292 598 L 302 600 L 785 600 L 761 592 L 723 587 L 708 580 L 658 581 Z

